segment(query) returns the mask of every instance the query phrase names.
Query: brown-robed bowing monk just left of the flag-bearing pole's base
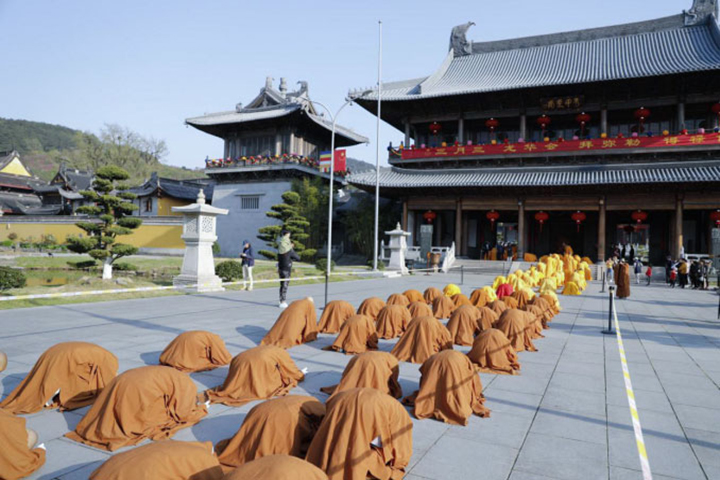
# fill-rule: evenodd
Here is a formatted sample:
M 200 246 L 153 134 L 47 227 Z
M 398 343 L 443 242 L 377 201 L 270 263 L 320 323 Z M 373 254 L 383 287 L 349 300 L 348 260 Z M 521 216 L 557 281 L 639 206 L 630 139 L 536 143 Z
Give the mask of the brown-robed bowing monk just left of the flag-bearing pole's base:
M 317 312 L 312 297 L 296 300 L 280 314 L 260 345 L 290 348 L 317 338 Z

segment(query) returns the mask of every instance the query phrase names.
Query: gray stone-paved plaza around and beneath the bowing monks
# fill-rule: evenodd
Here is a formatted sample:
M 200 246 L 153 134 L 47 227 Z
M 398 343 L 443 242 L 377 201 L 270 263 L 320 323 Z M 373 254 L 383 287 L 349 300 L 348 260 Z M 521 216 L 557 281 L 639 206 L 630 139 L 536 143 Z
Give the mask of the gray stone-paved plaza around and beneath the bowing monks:
M 465 276 L 463 292 L 491 282 Z M 331 284 L 331 300 L 359 305 L 408 288 L 442 288 L 453 275 L 411 276 Z M 618 315 L 650 465 L 656 479 L 720 479 L 720 323 L 713 292 L 632 286 Z M 322 285 L 291 286 L 290 297 L 322 302 Z M 0 374 L 5 396 L 48 347 L 63 341 L 97 343 L 120 360 L 120 371 L 157 364 L 165 345 L 184 330 L 220 334 L 236 355 L 256 345 L 279 310 L 276 289 L 162 297 L 123 302 L 0 312 L 0 349 L 9 355 Z M 579 297 L 560 296 L 563 311 L 538 352 L 520 354 L 522 375 L 482 374 L 491 417 L 466 427 L 413 420 L 408 479 L 636 479 L 642 478 L 615 336 L 602 335 L 607 297 L 593 283 Z M 293 394 L 320 400 L 319 388 L 338 382 L 350 359 L 326 352 L 334 336 L 290 349 L 309 369 Z M 389 351 L 393 341 L 381 341 Z M 467 351 L 468 347 L 455 347 Z M 401 363 L 405 394 L 417 388 L 418 365 Z M 198 389 L 220 384 L 227 367 L 192 374 Z M 239 428 L 256 402 L 212 405 L 209 415 L 177 440 L 217 442 Z M 30 478 L 85 479 L 109 454 L 62 438 L 86 409 L 29 415 L 47 446 L 47 463 Z M 123 451 L 123 450 L 120 450 Z

